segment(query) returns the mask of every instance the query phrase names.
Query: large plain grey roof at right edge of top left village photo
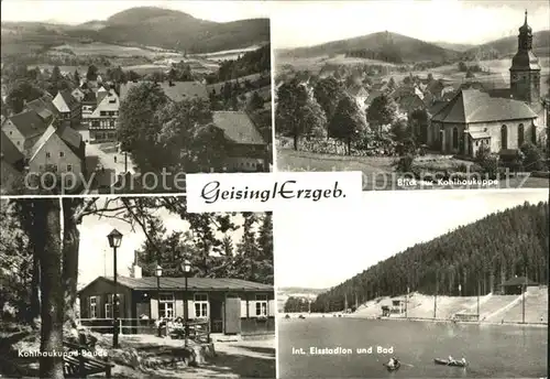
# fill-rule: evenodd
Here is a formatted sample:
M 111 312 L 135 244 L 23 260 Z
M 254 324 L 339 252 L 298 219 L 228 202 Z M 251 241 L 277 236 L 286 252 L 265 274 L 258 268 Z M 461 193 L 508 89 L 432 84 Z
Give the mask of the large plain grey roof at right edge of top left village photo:
M 215 111 L 213 123 L 234 143 L 265 144 L 252 119 L 244 111 Z

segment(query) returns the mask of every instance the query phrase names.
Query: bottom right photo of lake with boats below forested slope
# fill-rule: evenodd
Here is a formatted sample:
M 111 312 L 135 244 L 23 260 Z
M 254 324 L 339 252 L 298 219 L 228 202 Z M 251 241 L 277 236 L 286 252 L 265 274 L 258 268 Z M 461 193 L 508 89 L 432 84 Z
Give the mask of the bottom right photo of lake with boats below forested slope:
M 548 190 L 274 218 L 279 378 L 548 376 Z

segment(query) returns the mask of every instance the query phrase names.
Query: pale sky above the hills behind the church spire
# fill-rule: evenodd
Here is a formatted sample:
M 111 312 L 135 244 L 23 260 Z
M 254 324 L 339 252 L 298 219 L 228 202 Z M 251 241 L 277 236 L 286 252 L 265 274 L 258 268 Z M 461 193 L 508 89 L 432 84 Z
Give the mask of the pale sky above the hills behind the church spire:
M 544 1 L 285 1 L 272 10 L 275 47 L 312 46 L 389 31 L 424 41 L 484 43 L 517 35 L 525 10 L 534 31 L 550 29 Z

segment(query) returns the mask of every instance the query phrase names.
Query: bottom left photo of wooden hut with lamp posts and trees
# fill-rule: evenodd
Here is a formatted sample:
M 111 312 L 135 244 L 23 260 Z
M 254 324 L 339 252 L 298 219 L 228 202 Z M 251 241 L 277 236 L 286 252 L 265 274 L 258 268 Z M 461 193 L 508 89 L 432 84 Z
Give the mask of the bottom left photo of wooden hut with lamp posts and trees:
M 276 377 L 271 213 L 0 204 L 0 378 Z

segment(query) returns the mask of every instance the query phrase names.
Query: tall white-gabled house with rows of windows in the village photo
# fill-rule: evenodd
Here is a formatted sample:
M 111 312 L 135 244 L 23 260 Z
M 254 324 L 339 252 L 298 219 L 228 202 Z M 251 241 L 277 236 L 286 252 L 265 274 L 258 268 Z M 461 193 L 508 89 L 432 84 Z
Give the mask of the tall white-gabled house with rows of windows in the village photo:
M 90 140 L 95 142 L 117 141 L 117 119 L 119 118 L 119 96 L 111 89 L 97 94 L 99 101 L 96 109 L 86 117 Z

